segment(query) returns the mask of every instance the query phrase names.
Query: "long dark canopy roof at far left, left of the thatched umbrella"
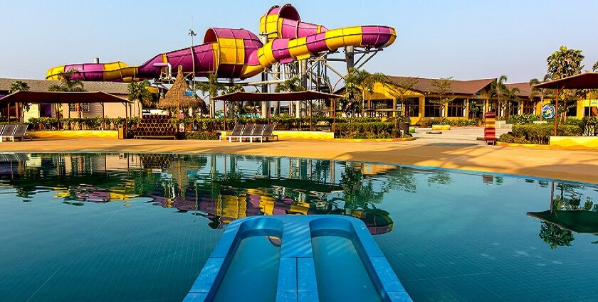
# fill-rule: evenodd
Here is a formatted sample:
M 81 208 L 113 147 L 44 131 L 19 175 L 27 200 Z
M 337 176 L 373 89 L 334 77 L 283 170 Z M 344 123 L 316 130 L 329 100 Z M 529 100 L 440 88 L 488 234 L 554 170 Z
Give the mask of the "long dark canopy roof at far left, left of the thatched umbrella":
M 58 92 L 58 91 L 19 91 L 0 98 L 0 104 L 6 103 L 129 103 L 128 99 L 121 99 L 105 92 Z

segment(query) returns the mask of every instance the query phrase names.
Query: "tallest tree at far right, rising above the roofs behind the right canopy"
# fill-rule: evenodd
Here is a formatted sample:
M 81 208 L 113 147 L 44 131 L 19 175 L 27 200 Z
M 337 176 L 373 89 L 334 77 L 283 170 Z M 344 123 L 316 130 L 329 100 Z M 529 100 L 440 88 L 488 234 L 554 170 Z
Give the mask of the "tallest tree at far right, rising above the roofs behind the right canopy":
M 579 75 L 584 68 L 584 65 L 582 65 L 583 60 L 584 56 L 582 55 L 582 50 L 568 49 L 565 46 L 561 46 L 559 50 L 546 58 L 548 63 L 548 74 L 550 74 L 552 80 Z M 579 99 L 579 93 L 579 90 L 562 91 L 563 110 L 559 110 L 559 112 L 562 114 L 560 118 L 562 118 L 563 122 L 567 118 L 567 109 L 575 105 Z M 560 100 L 560 97 L 560 95 L 556 95 L 555 99 Z

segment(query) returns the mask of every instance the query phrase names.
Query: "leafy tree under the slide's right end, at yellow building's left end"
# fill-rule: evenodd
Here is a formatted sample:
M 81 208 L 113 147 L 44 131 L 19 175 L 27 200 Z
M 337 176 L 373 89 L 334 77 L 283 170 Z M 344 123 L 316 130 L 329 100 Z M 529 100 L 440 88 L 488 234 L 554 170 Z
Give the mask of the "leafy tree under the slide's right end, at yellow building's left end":
M 387 82 L 387 76 L 367 70 L 351 68 L 345 75 L 345 97 L 341 99 L 343 110 L 355 117 L 357 112 L 363 112 L 364 92 L 374 92 L 374 84 Z

